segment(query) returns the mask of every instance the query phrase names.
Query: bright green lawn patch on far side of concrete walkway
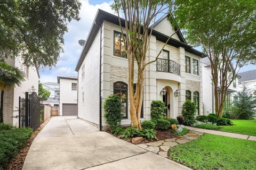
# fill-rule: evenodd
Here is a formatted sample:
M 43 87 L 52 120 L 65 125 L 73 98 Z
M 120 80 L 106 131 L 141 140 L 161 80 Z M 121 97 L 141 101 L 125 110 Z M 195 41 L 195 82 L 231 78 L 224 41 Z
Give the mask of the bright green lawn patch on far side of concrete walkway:
M 256 119 L 253 120 L 231 120 L 235 125 L 221 126 L 220 131 L 249 134 L 256 136 Z

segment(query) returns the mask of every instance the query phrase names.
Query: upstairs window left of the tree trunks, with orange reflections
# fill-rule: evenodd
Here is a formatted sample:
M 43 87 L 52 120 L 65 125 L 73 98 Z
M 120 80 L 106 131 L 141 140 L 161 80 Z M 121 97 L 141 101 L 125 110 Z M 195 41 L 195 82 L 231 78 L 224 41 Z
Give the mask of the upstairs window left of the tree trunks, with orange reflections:
M 127 58 L 125 53 L 126 36 L 122 37 L 120 32 L 114 32 L 114 55 Z

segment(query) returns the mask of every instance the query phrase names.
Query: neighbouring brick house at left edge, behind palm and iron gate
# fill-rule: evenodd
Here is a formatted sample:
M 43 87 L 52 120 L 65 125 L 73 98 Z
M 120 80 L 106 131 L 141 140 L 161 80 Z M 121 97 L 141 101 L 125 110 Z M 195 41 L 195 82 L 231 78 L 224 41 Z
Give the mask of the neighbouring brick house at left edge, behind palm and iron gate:
M 26 91 L 35 91 L 38 94 L 39 73 L 36 67 L 23 65 L 20 57 L 16 57 L 15 60 L 8 58 L 5 62 L 25 73 L 25 81 L 21 82 L 20 87 L 15 86 L 4 91 L 4 123 L 18 126 L 19 118 L 15 116 L 19 115 L 19 97 L 25 98 Z

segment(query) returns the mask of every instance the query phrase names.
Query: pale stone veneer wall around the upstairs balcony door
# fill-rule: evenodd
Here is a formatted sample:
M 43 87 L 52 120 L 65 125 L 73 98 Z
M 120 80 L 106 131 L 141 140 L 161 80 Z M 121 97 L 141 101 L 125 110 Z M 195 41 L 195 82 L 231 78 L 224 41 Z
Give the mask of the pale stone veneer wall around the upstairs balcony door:
M 163 46 L 164 46 L 164 43 L 156 40 L 156 55 L 159 54 Z M 179 57 L 178 48 L 166 44 L 164 49 L 169 51 L 170 60 L 179 63 L 180 57 Z M 163 54 L 161 53 L 159 58 L 162 58 L 162 57 L 163 57 Z

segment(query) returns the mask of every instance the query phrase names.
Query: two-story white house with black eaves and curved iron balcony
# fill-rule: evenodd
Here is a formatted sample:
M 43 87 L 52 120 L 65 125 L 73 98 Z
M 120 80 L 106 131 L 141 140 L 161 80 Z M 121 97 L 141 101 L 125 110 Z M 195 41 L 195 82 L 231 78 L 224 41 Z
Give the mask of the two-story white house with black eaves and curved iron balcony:
M 202 57 L 205 54 L 189 46 L 177 27 L 174 28 L 177 33 L 161 51 L 174 32 L 168 16 L 164 15 L 155 23 L 150 39 L 146 61 L 154 60 L 159 52 L 161 56 L 145 70 L 142 120 L 150 120 L 153 100 L 165 102 L 167 117 L 175 118 L 180 114 L 186 98 L 195 101 L 197 114 L 203 114 Z M 121 21 L 124 23 L 123 19 Z M 116 15 L 98 10 L 75 69 L 78 72 L 78 117 L 103 128 L 107 124 L 102 116 L 102 103 L 113 93 L 122 98 L 122 125 L 131 124 L 127 96 L 128 63 L 118 23 Z M 165 95 L 161 95 L 162 90 L 166 91 Z M 174 96 L 175 91 L 180 92 L 178 97 Z

